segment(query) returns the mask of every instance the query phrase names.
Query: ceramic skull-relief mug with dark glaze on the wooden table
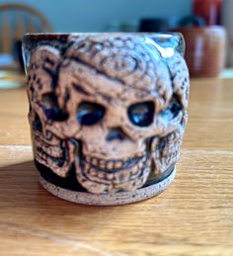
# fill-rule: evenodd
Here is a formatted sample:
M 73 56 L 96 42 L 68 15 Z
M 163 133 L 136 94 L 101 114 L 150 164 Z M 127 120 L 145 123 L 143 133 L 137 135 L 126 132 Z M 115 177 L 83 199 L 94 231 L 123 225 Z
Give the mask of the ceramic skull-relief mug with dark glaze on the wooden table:
M 28 34 L 23 51 L 43 188 L 120 205 L 170 185 L 189 95 L 180 35 Z

